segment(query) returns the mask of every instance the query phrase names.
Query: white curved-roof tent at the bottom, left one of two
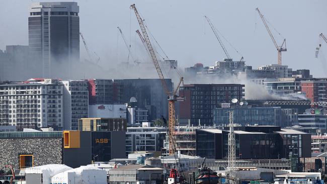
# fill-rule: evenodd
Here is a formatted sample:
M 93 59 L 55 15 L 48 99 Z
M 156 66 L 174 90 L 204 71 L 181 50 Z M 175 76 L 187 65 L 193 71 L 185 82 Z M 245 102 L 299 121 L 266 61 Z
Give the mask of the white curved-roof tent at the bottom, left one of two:
M 63 164 L 48 164 L 25 169 L 26 174 L 42 174 L 43 183 L 50 183 L 51 177 L 60 172 L 72 169 Z

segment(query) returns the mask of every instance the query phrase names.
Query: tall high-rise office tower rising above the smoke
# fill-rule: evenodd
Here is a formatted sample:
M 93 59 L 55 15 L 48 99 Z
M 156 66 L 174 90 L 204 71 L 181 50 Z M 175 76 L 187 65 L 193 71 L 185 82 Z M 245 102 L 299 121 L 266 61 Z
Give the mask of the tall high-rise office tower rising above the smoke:
M 58 77 L 79 61 L 79 7 L 75 2 L 30 6 L 30 54 L 40 61 L 43 77 Z M 64 73 L 65 74 L 65 73 Z

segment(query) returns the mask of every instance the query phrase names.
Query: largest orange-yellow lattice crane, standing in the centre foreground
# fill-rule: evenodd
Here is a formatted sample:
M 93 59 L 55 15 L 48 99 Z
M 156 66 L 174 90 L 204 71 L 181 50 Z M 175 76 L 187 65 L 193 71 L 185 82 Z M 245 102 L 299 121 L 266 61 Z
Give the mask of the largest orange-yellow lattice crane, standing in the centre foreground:
M 179 83 L 177 85 L 176 90 L 174 90 L 173 92 L 171 92 L 169 90 L 169 88 L 168 88 L 168 85 L 166 83 L 165 77 L 163 77 L 161 68 L 159 66 L 158 60 L 157 60 L 156 55 L 154 53 L 155 51 L 152 48 L 150 39 L 149 39 L 148 34 L 147 34 L 146 30 L 145 30 L 145 26 L 143 24 L 143 20 L 141 19 L 140 15 L 139 15 L 136 7 L 135 7 L 135 4 L 131 5 L 130 7 L 135 12 L 135 15 L 136 15 L 138 24 L 140 25 L 140 28 L 141 28 L 141 31 L 142 31 L 142 34 L 143 34 L 144 41 L 146 43 L 147 50 L 150 53 L 150 56 L 151 56 L 151 59 L 153 61 L 154 66 L 155 66 L 155 69 L 156 69 L 156 71 L 157 71 L 157 73 L 159 75 L 159 78 L 161 80 L 163 89 L 165 89 L 165 92 L 166 92 L 166 94 L 168 96 L 167 99 L 168 99 L 168 102 L 169 102 L 168 103 L 169 104 L 169 108 L 168 108 L 169 109 L 169 121 L 168 121 L 169 122 L 169 154 L 176 156 L 176 144 L 175 144 L 175 136 L 176 136 L 176 133 L 175 133 L 175 124 L 176 124 L 176 122 L 175 122 L 176 121 L 176 117 L 175 117 L 175 103 L 176 103 L 176 101 L 183 101 L 184 100 L 184 98 L 181 98 L 181 97 L 178 97 L 177 96 L 177 90 L 178 90 L 179 86 L 181 85 L 181 83 L 183 82 L 183 77 L 180 78 L 180 81 L 179 81 Z

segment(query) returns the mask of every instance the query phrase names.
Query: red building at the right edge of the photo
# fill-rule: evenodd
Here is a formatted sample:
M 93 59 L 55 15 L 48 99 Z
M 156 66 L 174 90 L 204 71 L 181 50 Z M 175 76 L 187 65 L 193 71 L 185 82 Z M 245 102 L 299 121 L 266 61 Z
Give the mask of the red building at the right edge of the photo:
M 327 101 L 327 81 L 308 80 L 301 81 L 301 91 L 306 94 L 306 98 L 312 102 Z

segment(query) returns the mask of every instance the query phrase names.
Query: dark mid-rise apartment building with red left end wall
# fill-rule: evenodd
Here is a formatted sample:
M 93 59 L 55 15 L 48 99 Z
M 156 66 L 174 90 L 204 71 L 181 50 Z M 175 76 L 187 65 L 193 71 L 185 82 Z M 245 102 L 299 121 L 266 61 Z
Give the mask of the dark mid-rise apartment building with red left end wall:
M 89 104 L 109 105 L 123 104 L 123 86 L 121 80 L 89 79 Z

